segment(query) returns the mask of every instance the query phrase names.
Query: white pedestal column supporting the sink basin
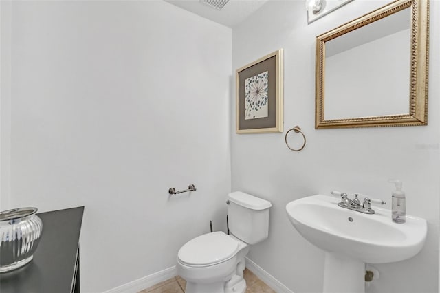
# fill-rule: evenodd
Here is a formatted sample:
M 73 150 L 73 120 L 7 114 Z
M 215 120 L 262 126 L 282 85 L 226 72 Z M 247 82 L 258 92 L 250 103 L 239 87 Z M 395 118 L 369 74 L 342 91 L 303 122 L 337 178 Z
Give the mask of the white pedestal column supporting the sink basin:
M 325 252 L 324 293 L 364 293 L 365 264 L 342 254 Z

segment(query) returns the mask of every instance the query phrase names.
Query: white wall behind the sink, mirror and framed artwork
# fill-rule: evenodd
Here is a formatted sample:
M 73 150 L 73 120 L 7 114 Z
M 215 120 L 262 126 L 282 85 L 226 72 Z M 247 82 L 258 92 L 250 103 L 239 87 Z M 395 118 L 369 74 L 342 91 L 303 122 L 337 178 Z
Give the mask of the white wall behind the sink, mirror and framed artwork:
M 314 129 L 315 37 L 383 4 L 356 0 L 307 25 L 303 1 L 274 0 L 233 30 L 234 69 L 284 48 L 285 132 L 299 125 L 307 137 L 305 149 L 295 153 L 285 146 L 285 133 L 237 135 L 231 127 L 232 190 L 260 195 L 273 204 L 270 237 L 251 248 L 250 259 L 295 293 L 322 290 L 324 253 L 296 232 L 285 205 L 334 189 L 391 202 L 390 177 L 403 180 L 408 213 L 427 219 L 428 239 L 416 257 L 376 265 L 380 280 L 368 292 L 438 292 L 439 1 L 430 2 L 428 126 Z

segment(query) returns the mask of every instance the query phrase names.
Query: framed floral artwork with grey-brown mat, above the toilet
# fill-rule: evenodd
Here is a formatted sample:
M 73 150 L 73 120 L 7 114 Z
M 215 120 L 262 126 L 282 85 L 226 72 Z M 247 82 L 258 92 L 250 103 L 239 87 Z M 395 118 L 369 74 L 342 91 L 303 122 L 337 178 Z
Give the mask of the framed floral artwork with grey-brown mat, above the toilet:
M 283 132 L 283 49 L 236 70 L 236 133 Z

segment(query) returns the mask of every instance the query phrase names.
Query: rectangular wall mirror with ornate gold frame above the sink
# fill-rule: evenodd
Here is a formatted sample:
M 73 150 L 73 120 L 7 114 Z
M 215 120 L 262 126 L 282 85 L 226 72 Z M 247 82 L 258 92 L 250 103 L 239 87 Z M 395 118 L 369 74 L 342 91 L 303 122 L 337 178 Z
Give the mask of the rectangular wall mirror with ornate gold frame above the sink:
M 316 37 L 315 128 L 428 123 L 429 0 L 397 0 Z

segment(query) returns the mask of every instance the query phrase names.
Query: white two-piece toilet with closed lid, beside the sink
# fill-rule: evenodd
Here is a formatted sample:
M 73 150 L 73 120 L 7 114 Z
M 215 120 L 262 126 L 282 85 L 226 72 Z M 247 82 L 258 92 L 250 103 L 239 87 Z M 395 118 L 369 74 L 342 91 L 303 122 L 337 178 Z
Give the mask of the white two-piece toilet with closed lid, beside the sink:
M 186 293 L 243 293 L 249 245 L 269 235 L 270 202 L 241 191 L 228 195 L 230 235 L 212 232 L 188 241 L 177 254 Z

